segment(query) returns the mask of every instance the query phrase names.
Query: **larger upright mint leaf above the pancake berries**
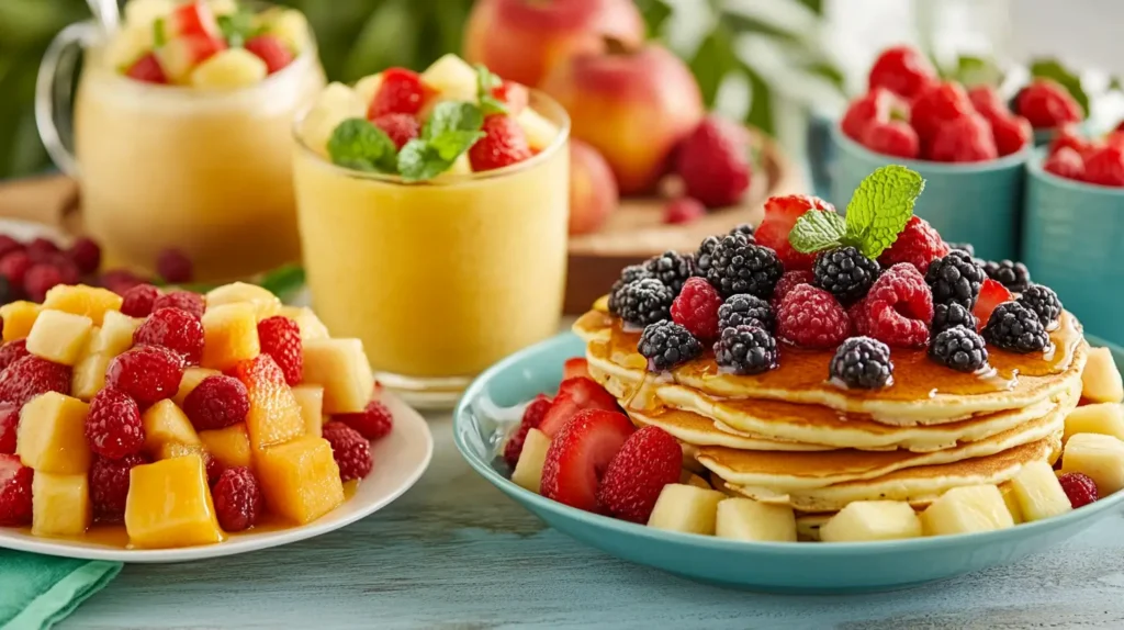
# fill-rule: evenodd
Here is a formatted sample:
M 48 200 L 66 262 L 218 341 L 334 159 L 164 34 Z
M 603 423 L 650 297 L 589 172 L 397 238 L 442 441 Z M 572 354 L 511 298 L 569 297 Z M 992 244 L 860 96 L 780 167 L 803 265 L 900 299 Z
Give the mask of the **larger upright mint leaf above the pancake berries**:
M 868 258 L 877 258 L 897 240 L 923 190 L 925 180 L 905 166 L 890 164 L 876 170 L 846 204 L 846 234 L 842 240 Z

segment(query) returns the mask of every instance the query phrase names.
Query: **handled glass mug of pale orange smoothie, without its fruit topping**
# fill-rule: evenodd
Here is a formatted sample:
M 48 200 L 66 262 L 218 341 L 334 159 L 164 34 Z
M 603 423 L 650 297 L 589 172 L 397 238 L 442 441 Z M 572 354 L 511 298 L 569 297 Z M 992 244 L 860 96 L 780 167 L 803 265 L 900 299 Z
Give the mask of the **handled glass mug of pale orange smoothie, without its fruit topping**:
M 325 84 L 308 42 L 257 84 L 207 91 L 119 74 L 93 24 L 58 35 L 40 67 L 36 118 L 55 164 L 79 181 L 85 229 L 109 265 L 151 271 L 174 247 L 197 280 L 223 281 L 299 259 L 290 129 Z M 75 48 L 84 63 L 72 155 L 63 138 Z

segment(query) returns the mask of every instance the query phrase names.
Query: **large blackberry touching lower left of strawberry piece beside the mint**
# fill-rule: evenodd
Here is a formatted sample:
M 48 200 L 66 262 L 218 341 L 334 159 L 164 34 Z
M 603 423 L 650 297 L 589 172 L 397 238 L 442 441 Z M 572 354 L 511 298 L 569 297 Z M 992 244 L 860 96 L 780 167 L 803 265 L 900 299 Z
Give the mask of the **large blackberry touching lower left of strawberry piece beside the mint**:
M 710 255 L 706 280 L 724 298 L 750 293 L 768 300 L 783 273 L 785 265 L 772 249 L 741 236 L 725 236 Z

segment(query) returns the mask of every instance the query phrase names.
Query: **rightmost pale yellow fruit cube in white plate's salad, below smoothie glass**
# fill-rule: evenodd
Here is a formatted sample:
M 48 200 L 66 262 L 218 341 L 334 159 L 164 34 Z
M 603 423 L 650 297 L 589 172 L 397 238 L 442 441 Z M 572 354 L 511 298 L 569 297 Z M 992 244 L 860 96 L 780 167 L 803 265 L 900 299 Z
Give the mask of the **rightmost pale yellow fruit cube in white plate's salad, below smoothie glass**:
M 325 413 L 366 409 L 374 389 L 371 364 L 359 339 L 312 339 L 305 343 L 302 381 L 324 385 Z

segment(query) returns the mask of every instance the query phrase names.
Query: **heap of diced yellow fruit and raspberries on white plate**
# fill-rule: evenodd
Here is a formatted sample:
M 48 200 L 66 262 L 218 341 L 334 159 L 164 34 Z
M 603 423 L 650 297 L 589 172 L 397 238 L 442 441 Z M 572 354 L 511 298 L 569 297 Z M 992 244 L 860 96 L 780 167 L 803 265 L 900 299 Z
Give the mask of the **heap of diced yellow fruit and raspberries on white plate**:
M 2 527 L 170 548 L 301 526 L 392 429 L 362 343 L 257 286 L 60 285 L 0 316 Z

